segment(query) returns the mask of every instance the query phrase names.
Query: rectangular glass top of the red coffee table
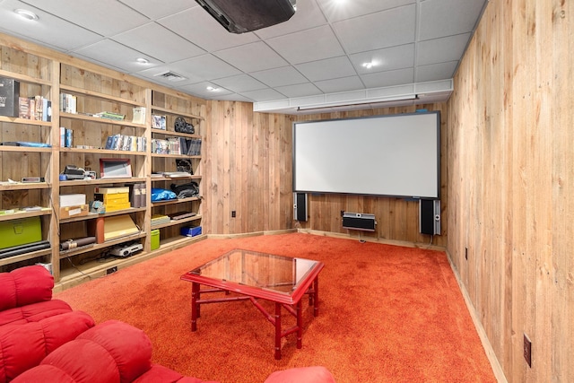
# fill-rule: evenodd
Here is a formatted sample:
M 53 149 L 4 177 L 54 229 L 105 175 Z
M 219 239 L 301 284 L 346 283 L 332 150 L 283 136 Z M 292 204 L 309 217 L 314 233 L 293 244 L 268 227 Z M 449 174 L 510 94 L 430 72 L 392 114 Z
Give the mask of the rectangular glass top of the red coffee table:
M 321 262 L 233 249 L 187 274 L 290 294 Z

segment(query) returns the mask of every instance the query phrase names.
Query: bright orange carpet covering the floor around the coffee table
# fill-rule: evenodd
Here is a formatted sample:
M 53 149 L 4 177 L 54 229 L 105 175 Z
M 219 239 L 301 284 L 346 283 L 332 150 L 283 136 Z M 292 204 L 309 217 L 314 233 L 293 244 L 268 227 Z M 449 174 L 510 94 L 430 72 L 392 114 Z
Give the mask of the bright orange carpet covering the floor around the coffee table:
M 303 347 L 295 335 L 283 338 L 281 361 L 274 327 L 249 301 L 202 306 L 190 331 L 191 283 L 179 276 L 232 248 L 325 263 L 319 316 L 304 300 Z M 200 379 L 256 383 L 274 370 L 323 365 L 338 383 L 496 381 L 439 251 L 302 233 L 206 239 L 56 297 L 98 323 L 143 329 L 154 362 Z

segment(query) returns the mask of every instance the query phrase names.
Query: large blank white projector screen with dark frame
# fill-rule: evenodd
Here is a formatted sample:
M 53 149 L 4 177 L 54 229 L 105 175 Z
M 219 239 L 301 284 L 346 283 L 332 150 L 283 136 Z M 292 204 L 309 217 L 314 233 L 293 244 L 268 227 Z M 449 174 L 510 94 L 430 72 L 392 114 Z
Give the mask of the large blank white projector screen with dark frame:
M 293 123 L 293 191 L 439 198 L 440 114 Z

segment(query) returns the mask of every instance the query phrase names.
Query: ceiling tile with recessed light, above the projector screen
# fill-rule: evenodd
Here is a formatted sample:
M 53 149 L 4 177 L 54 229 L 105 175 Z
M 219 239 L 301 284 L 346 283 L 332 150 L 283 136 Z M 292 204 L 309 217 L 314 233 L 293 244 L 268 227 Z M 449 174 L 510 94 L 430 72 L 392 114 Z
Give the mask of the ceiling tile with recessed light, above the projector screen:
M 352 65 L 359 74 L 389 71 L 414 65 L 414 44 L 405 44 L 393 48 L 370 50 L 350 55 Z M 364 63 L 372 63 L 366 68 Z

